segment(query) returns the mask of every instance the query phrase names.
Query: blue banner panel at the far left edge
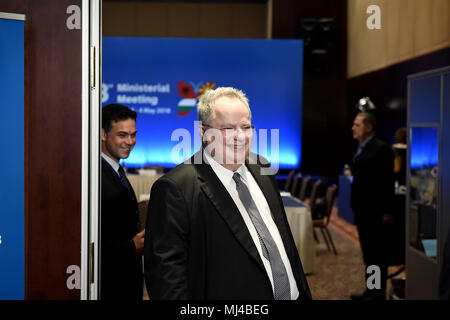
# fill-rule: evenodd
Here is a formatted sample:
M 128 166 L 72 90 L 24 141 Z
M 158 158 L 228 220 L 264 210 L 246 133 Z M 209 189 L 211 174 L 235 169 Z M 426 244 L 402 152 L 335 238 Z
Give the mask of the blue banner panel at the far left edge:
M 0 19 L 0 299 L 25 298 L 24 22 Z M 5 136 L 6 135 L 6 136 Z

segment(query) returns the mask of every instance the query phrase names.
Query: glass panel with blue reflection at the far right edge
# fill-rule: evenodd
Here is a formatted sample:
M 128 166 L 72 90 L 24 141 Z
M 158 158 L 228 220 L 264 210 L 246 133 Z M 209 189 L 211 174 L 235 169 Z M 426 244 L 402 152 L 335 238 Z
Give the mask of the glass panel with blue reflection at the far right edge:
M 436 258 L 439 129 L 410 130 L 410 239 L 411 246 Z

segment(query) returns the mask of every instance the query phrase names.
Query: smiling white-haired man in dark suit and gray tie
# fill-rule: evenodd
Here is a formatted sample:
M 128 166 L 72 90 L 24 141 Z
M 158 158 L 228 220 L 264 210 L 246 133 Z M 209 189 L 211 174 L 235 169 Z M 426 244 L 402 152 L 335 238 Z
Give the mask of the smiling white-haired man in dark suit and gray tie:
M 202 150 L 151 190 L 150 299 L 311 299 L 275 178 L 249 157 L 244 93 L 206 91 L 198 114 Z

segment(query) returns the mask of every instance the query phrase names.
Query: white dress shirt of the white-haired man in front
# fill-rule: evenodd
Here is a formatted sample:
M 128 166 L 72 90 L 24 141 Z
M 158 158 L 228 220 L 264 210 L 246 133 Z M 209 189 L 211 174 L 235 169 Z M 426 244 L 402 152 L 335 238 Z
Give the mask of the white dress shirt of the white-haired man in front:
M 269 275 L 270 283 L 272 284 L 272 290 L 274 290 L 272 268 L 270 267 L 270 262 L 263 255 L 261 243 L 259 241 L 255 226 L 253 225 L 253 222 L 251 221 L 250 216 L 247 213 L 247 210 L 245 209 L 241 199 L 239 198 L 239 194 L 236 190 L 236 182 L 234 182 L 233 180 L 234 172 L 225 168 L 217 161 L 215 161 L 214 158 L 208 154 L 208 152 L 205 151 L 204 154 L 207 162 L 211 165 L 211 168 L 213 169 L 214 173 L 217 175 L 219 180 L 225 186 L 234 203 L 238 207 L 239 212 L 241 213 L 242 218 L 244 219 L 244 222 L 247 226 L 247 229 L 250 232 L 250 236 L 252 237 L 256 248 L 258 249 L 259 256 L 261 257 L 261 260 L 264 263 L 266 272 Z M 289 262 L 289 259 L 287 257 L 283 241 L 281 240 L 280 232 L 278 231 L 278 228 L 272 218 L 272 213 L 270 211 L 269 205 L 267 204 L 266 197 L 259 188 L 258 183 L 255 181 L 255 178 L 253 178 L 253 175 L 248 171 L 245 165 L 240 166 L 239 169 L 236 170 L 236 172 L 238 172 L 241 175 L 241 181 L 245 183 L 245 185 L 249 189 L 253 201 L 256 204 L 256 207 L 258 208 L 258 211 L 261 214 L 261 217 L 264 223 L 266 224 L 267 229 L 269 229 L 269 232 L 272 235 L 272 238 L 276 246 L 278 247 L 278 251 L 280 252 L 281 255 L 281 260 L 283 261 L 283 264 L 286 268 L 286 272 L 288 274 L 289 284 L 291 287 L 291 299 L 295 300 L 299 296 L 297 282 L 295 281 L 294 275 L 292 273 L 291 263 Z

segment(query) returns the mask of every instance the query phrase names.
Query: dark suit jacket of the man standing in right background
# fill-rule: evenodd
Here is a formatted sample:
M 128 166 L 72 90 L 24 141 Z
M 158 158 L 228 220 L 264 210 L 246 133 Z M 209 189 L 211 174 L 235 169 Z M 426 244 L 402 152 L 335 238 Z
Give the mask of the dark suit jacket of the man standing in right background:
M 386 257 L 389 239 L 383 215 L 393 214 L 394 154 L 386 143 L 373 138 L 352 162 L 351 207 L 355 213 L 366 264 Z

